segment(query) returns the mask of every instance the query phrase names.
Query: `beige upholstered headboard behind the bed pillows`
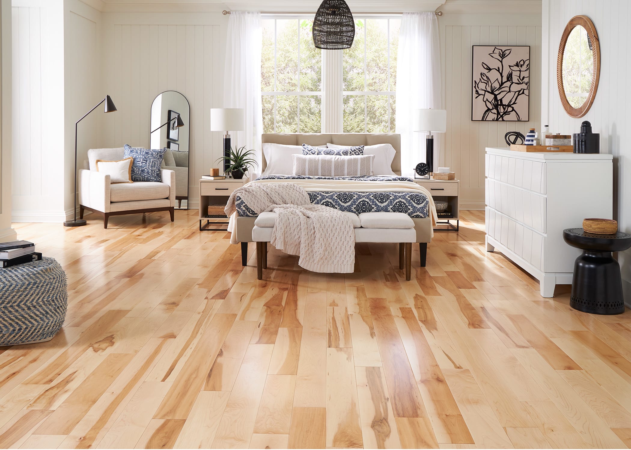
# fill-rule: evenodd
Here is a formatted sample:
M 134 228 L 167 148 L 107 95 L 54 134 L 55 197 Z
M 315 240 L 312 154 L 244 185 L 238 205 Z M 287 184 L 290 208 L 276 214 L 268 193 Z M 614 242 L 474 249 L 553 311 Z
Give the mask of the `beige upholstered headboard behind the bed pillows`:
M 271 144 L 285 144 L 288 146 L 300 146 L 309 144 L 310 146 L 326 146 L 327 142 L 339 146 L 374 146 L 375 144 L 391 144 L 396 150 L 392 159 L 392 171 L 401 174 L 401 135 L 387 133 L 269 133 L 261 135 L 261 142 Z M 265 155 L 262 156 L 262 168 L 268 166 Z

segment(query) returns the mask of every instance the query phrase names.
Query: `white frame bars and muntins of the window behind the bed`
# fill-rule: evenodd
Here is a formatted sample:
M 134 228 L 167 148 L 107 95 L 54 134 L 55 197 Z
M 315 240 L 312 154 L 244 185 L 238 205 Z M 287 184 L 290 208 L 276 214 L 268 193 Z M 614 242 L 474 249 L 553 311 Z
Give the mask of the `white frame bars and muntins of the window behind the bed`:
M 263 20 L 274 20 L 274 90 L 273 91 L 262 91 L 261 95 L 268 95 L 271 96 L 274 99 L 274 107 L 273 107 L 273 115 L 274 115 L 274 132 L 276 132 L 276 98 L 278 96 L 297 96 L 297 131 L 298 133 L 300 133 L 300 97 L 301 96 L 312 96 L 312 95 L 319 95 L 321 98 L 321 105 L 324 105 L 325 101 L 324 98 L 327 95 L 327 92 L 322 90 L 322 91 L 300 91 L 300 38 L 298 38 L 298 91 L 276 91 L 276 54 L 277 54 L 277 49 L 276 49 L 276 45 L 277 45 L 277 22 L 278 20 L 292 20 L 292 19 L 297 19 L 298 20 L 298 29 L 297 29 L 297 33 L 298 33 L 298 37 L 300 36 L 300 21 L 302 20 L 313 20 L 314 16 L 315 16 L 315 12 L 314 13 L 307 13 L 307 14 L 261 14 L 262 19 Z M 401 19 L 403 16 L 403 14 L 361 14 L 361 15 L 357 15 L 354 16 L 355 19 L 360 19 L 360 20 L 364 20 L 366 21 L 367 19 L 387 19 L 387 61 L 388 61 L 388 72 L 387 72 L 387 78 L 388 78 L 388 87 L 391 88 L 391 79 L 390 79 L 390 64 L 391 64 L 391 55 L 390 55 L 390 20 L 389 19 Z M 364 89 L 367 88 L 367 75 L 366 75 L 366 56 L 367 56 L 367 50 L 366 50 L 366 26 L 364 27 L 364 48 L 363 48 L 363 64 L 364 64 Z M 324 58 L 322 58 L 322 62 L 324 62 Z M 339 66 L 339 79 L 343 78 L 343 71 L 344 71 L 344 64 L 341 64 Z M 324 76 L 324 68 L 322 70 L 322 76 Z M 364 132 L 366 132 L 367 129 L 367 125 L 368 125 L 368 102 L 367 102 L 367 96 L 369 95 L 386 95 L 387 96 L 387 117 L 388 117 L 388 132 L 394 132 L 394 130 L 391 129 L 391 124 L 392 124 L 392 120 L 391 120 L 391 100 L 394 96 L 396 96 L 396 91 L 367 91 L 367 90 L 363 90 L 363 91 L 343 91 L 342 92 L 342 96 L 345 95 L 363 95 L 364 96 L 364 102 L 363 102 L 363 110 L 364 110 Z M 341 110 L 339 111 L 339 117 L 343 117 L 343 103 L 342 105 L 340 105 Z M 324 118 L 324 113 L 322 113 L 322 117 Z M 342 124 L 343 126 L 343 124 Z M 321 128 L 322 130 L 322 128 Z

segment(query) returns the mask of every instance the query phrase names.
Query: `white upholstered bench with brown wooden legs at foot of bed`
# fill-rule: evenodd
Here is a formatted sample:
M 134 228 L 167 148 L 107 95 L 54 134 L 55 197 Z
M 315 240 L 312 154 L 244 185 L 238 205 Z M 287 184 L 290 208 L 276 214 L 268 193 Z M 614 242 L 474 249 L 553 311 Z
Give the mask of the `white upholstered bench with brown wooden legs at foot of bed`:
M 355 242 L 398 243 L 399 268 L 405 267 L 405 279 L 410 280 L 412 262 L 412 243 L 416 242 L 414 221 L 399 212 L 365 212 L 357 216 L 346 213 L 353 219 Z M 276 221 L 275 212 L 263 212 L 254 221 L 252 241 L 256 242 L 257 278 L 262 279 L 263 269 L 267 268 L 267 243 L 271 240 L 272 229 Z M 388 228 L 386 228 L 386 226 Z M 427 243 L 422 243 L 427 251 Z M 425 265 L 424 255 L 421 255 Z

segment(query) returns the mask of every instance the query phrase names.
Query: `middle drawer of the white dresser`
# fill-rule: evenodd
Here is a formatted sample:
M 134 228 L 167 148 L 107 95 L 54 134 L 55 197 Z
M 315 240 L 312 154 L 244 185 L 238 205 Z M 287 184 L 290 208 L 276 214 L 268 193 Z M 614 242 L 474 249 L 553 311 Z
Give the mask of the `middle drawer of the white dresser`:
M 546 197 L 513 185 L 487 178 L 486 204 L 517 222 L 547 233 Z

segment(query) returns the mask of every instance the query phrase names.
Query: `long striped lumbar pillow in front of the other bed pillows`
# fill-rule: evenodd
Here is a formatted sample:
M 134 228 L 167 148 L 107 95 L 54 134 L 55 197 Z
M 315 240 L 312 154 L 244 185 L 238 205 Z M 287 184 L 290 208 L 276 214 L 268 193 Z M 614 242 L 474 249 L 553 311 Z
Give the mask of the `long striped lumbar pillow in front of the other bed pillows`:
M 374 154 L 362 156 L 307 156 L 293 154 L 293 175 L 362 176 L 372 175 Z

